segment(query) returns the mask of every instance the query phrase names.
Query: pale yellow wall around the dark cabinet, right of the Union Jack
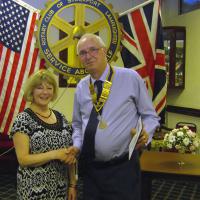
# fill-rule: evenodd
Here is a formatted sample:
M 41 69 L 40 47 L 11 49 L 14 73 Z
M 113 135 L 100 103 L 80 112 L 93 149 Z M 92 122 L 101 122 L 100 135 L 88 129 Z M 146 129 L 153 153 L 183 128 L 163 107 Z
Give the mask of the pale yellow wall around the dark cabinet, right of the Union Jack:
M 186 27 L 185 89 L 170 89 L 167 104 L 200 109 L 200 9 L 178 15 L 178 0 L 164 1 L 163 22 L 165 26 Z M 178 121 L 193 122 L 200 131 L 200 118 L 167 113 L 167 126 L 174 127 Z

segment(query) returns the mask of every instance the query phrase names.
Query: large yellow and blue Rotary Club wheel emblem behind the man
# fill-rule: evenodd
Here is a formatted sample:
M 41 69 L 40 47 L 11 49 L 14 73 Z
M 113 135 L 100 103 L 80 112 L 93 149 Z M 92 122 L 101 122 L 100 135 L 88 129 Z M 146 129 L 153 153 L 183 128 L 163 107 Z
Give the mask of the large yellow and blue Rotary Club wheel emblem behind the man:
M 103 0 L 55 0 L 41 11 L 37 44 L 48 66 L 68 77 L 80 79 L 87 71 L 79 63 L 76 44 L 84 33 L 95 33 L 105 41 L 111 62 L 120 45 L 120 28 L 111 5 Z M 62 54 L 66 55 L 61 58 Z

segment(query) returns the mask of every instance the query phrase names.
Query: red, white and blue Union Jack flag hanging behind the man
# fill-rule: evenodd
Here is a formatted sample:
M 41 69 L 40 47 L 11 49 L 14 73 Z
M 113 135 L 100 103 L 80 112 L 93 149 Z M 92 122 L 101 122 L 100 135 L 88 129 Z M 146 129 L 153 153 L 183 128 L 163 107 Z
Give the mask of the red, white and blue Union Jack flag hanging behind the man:
M 154 107 L 164 123 L 166 67 L 159 0 L 147 1 L 120 15 L 123 24 L 121 56 L 124 66 L 146 81 Z

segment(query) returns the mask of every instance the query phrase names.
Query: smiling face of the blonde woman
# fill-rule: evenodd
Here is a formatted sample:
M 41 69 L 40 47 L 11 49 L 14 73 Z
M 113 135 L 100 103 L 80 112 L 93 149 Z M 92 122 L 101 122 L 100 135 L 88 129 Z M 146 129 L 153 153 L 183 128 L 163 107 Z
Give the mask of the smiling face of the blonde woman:
M 47 81 L 42 81 L 41 84 L 37 85 L 33 89 L 33 103 L 41 107 L 48 106 L 49 102 L 53 98 L 53 95 L 53 85 L 49 84 Z

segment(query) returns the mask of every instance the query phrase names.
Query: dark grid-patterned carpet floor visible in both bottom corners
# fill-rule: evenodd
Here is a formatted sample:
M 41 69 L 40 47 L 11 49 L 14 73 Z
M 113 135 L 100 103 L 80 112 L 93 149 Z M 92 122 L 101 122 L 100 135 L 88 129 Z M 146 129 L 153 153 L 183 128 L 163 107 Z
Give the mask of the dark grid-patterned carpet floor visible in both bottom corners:
M 16 200 L 16 175 L 2 169 L 0 200 Z M 151 200 L 200 200 L 200 183 L 153 180 Z

